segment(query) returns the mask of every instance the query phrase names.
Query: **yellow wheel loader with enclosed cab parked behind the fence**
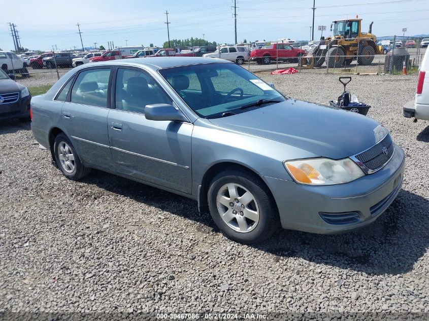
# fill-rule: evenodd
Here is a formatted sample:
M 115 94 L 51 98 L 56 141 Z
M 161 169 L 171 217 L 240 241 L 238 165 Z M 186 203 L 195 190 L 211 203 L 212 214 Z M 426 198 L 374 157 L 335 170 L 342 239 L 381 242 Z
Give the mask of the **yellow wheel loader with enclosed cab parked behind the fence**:
M 306 68 L 320 67 L 324 62 L 329 68 L 340 68 L 357 59 L 360 65 L 369 65 L 374 55 L 383 53 L 383 46 L 377 46 L 377 37 L 368 32 L 361 32 L 362 19 L 346 19 L 333 21 L 331 31 L 334 36 L 321 39 L 319 44 L 310 50 L 309 55 L 302 57 L 302 65 Z M 334 27 L 334 29 L 333 29 Z

